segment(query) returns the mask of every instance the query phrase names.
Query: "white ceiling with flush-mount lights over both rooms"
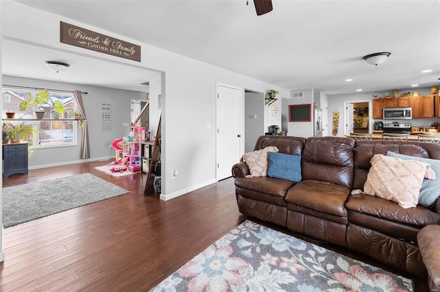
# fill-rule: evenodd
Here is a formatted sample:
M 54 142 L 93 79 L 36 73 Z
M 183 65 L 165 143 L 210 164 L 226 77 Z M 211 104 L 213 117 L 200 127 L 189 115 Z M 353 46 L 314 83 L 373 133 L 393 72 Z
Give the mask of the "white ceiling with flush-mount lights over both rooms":
M 439 84 L 439 0 L 273 0 L 263 16 L 252 0 L 19 2 L 289 90 L 340 95 Z M 383 64 L 362 60 L 380 51 L 391 52 Z M 71 64 L 63 74 L 42 65 L 57 59 Z M 3 74 L 140 90 L 158 73 L 6 39 Z

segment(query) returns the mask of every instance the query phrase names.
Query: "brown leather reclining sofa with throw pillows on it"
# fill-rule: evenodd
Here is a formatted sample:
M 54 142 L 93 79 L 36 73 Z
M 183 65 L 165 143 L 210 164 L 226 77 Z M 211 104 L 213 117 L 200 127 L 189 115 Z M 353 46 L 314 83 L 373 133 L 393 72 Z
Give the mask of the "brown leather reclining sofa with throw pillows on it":
M 350 193 L 363 188 L 374 154 L 393 151 L 440 160 L 439 144 L 261 136 L 254 149 L 267 146 L 301 154 L 302 180 L 245 178 L 248 165 L 237 163 L 232 175 L 241 213 L 426 276 L 417 234 L 424 226 L 440 224 L 440 199 L 433 208 L 404 209 L 380 197 Z

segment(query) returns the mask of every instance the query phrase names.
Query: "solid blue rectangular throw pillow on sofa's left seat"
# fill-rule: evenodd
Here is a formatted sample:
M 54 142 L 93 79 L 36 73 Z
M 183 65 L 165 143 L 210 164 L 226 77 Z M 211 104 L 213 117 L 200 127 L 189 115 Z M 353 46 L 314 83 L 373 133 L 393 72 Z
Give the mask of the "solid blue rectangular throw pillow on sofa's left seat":
M 267 175 L 272 178 L 282 178 L 300 182 L 301 180 L 301 156 L 278 152 L 267 152 L 269 165 Z

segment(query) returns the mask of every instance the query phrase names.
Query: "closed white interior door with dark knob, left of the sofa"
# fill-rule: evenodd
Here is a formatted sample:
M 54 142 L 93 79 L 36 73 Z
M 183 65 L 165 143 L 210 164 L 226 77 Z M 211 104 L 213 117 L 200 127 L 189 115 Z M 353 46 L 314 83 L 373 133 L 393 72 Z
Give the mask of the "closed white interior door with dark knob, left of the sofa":
M 217 181 L 232 175 L 240 160 L 241 88 L 217 85 Z

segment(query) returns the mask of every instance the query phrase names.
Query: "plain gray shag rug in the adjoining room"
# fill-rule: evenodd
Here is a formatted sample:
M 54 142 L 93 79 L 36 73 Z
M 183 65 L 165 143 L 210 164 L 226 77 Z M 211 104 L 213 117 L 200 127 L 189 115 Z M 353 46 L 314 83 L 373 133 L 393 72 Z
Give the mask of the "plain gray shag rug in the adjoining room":
M 8 186 L 3 193 L 3 227 L 46 217 L 129 193 L 91 173 Z

